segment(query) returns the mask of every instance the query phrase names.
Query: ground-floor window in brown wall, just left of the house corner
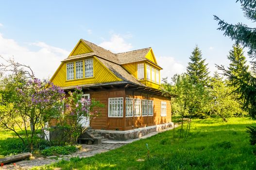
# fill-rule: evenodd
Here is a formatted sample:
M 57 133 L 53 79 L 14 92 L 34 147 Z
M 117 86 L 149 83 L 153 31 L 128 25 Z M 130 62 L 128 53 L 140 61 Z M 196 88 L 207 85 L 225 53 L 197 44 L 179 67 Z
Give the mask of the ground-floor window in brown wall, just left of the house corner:
M 108 98 L 108 117 L 123 117 L 123 98 Z

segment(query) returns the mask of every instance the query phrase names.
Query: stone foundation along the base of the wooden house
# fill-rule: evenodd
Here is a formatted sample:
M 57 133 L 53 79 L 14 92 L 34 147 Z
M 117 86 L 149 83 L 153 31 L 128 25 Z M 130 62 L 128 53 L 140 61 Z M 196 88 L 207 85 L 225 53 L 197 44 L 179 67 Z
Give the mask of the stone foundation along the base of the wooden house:
M 157 132 L 161 129 L 165 129 L 171 126 L 173 126 L 172 122 L 143 127 L 143 128 L 137 128 L 137 129 L 128 130 L 128 131 L 95 130 L 95 132 L 97 132 L 97 134 L 100 134 L 106 139 L 128 140 L 128 139 L 135 139 L 137 137 L 145 136 L 152 132 Z

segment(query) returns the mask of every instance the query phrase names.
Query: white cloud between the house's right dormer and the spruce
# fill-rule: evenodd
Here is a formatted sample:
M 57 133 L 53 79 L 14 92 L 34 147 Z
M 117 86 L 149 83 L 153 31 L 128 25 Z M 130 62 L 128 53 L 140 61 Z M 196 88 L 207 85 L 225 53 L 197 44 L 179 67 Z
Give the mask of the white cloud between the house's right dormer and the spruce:
M 171 77 L 174 74 L 181 74 L 186 71 L 186 67 L 177 62 L 173 57 L 162 56 L 156 58 L 157 64 L 163 68 L 161 70 L 162 78 L 168 77 L 168 81 L 171 82 Z

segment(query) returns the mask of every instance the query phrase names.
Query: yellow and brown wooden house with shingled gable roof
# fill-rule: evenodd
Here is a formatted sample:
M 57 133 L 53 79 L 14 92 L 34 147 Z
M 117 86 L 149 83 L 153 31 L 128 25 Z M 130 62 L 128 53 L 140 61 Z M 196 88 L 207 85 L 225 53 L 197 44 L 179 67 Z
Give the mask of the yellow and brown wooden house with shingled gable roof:
M 160 70 L 152 48 L 112 53 L 80 39 L 51 82 L 65 91 L 80 86 L 86 98 L 104 103 L 90 126 L 128 139 L 171 125 L 170 98 L 159 91 Z

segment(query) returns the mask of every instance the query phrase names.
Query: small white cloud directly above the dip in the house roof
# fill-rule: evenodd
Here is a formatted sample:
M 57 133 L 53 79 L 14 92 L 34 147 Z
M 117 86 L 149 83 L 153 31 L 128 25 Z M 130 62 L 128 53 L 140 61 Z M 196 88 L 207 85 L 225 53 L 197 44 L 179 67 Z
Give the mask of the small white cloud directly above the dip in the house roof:
M 131 51 L 133 48 L 132 44 L 125 42 L 124 37 L 118 34 L 113 34 L 109 41 L 104 40 L 99 46 L 116 53 Z

